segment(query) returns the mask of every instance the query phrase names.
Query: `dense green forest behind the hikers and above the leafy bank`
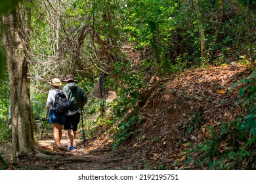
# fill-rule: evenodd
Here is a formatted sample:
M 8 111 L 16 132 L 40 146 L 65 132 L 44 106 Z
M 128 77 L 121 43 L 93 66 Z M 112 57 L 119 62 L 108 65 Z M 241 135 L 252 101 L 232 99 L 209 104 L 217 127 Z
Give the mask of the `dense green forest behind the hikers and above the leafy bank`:
M 87 106 L 88 116 L 98 114 L 95 125 L 112 123 L 116 127 L 114 148 L 135 136 L 134 127 L 143 120 L 139 108 L 145 103 L 145 91 L 152 76 L 164 79 L 183 71 L 207 65 L 243 63 L 252 71 L 251 78 L 234 83 L 247 84 L 240 92 L 246 97 L 247 112 L 242 139 L 249 138 L 243 158 L 255 156 L 255 22 L 256 3 L 253 0 L 37 0 L 8 1 L 0 9 L 0 141 L 13 141 L 11 107 L 16 93 L 12 87 L 15 78 L 11 73 L 6 37 L 19 35 L 31 105 L 25 111 L 33 118 L 46 114 L 45 101 L 54 77 L 75 75 L 86 93 L 99 85 L 98 98 Z M 14 16 L 14 23 L 6 22 Z M 11 21 L 12 19 L 10 19 Z M 7 33 L 6 26 L 16 30 Z M 13 51 L 13 50 L 12 50 Z M 20 53 L 20 52 L 19 52 Z M 11 54 L 12 55 L 12 54 Z M 17 57 L 18 57 L 17 56 Z M 7 60 L 7 61 L 6 61 Z M 16 63 L 19 63 L 18 61 Z M 12 72 L 11 72 L 12 71 Z M 21 75 L 19 75 L 21 76 Z M 16 78 L 18 78 L 17 76 Z M 22 87 L 22 86 L 20 86 Z M 26 87 L 26 86 L 25 86 Z M 235 88 L 235 87 L 234 87 Z M 232 89 L 234 89 L 232 88 Z M 116 92 L 114 103 L 106 103 L 106 91 Z M 20 93 L 25 97 L 26 92 Z M 27 106 L 28 107 L 28 106 Z M 112 108 L 112 114 L 106 114 Z M 98 112 L 98 113 L 97 113 Z M 13 118 L 13 116 L 12 116 Z M 28 120 L 24 118 L 24 120 Z M 12 129 L 9 127 L 12 123 Z M 20 123 L 26 123 L 20 121 Z M 34 132 L 35 133 L 35 132 Z M 20 137 L 19 137 L 20 138 Z M 33 139 L 26 137 L 25 139 Z M 246 141 L 247 141 L 246 140 Z M 33 141 L 32 141 L 33 143 Z M 26 144 L 26 143 L 25 143 Z M 25 145 L 30 146 L 30 145 Z M 28 147 L 27 147 L 28 148 Z M 15 149 L 15 148 L 14 148 Z M 33 148 L 30 148 L 33 150 Z M 1 154 L 4 152 L 0 152 Z M 1 155 L 0 154 L 0 155 Z M 15 152 L 13 152 L 15 154 Z M 15 155 L 14 155 L 15 156 Z M 242 156 L 241 156 L 242 157 Z M 250 159 L 251 160 L 251 159 Z M 212 167 L 210 167 L 212 168 Z M 227 167 L 230 168 L 230 167 Z M 234 168 L 234 167 L 231 167 Z

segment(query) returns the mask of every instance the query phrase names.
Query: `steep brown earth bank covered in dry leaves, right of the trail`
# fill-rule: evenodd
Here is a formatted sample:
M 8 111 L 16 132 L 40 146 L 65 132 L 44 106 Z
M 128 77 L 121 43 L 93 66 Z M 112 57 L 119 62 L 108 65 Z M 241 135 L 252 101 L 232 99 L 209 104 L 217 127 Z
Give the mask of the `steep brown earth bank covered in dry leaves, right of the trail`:
M 131 169 L 207 169 L 207 162 L 195 165 L 189 161 L 198 153 L 188 156 L 184 150 L 192 152 L 191 148 L 213 138 L 223 124 L 230 124 L 242 113 L 238 102 L 242 86 L 228 90 L 249 74 L 245 65 L 234 63 L 194 69 L 153 83 L 145 91 L 146 101 L 140 108 L 144 123 L 135 138 L 123 145 L 123 153 L 128 152 L 123 156 L 130 157 L 125 166 L 130 163 Z M 231 125 L 230 133 L 234 133 L 232 129 Z M 219 154 L 228 149 L 226 140 L 218 140 L 222 141 L 216 144 Z M 241 169 L 242 165 L 226 168 Z

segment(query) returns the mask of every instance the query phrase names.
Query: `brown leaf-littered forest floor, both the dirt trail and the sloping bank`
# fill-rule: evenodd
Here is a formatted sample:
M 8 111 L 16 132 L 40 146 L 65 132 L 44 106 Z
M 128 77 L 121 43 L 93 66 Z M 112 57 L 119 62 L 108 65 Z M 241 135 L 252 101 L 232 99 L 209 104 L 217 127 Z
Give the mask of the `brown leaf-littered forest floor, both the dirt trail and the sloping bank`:
M 186 156 L 182 151 L 207 138 L 207 126 L 218 127 L 241 114 L 238 100 L 242 86 L 228 91 L 234 82 L 250 74 L 247 65 L 234 63 L 193 69 L 164 79 L 154 77 L 140 103 L 143 123 L 136 126 L 135 137 L 114 152 L 111 135 L 103 133 L 104 129 L 99 129 L 96 138 L 87 139 L 85 148 L 78 134 L 77 152 L 67 151 L 66 131 L 61 148 L 54 146 L 49 129 L 43 139 L 37 139 L 38 146 L 54 152 L 58 159 L 20 159 L 18 165 L 10 165 L 9 169 L 199 169 L 183 164 Z M 3 150 L 10 152 L 10 144 L 3 144 Z M 4 156 L 11 157 L 8 153 Z

